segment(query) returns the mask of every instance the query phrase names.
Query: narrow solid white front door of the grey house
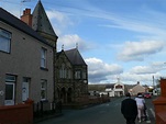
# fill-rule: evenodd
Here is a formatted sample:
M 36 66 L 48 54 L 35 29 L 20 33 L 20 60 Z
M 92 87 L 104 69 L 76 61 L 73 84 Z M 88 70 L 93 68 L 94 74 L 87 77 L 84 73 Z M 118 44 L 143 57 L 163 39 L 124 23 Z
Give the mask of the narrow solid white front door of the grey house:
M 22 101 L 26 101 L 29 98 L 29 82 L 22 83 Z

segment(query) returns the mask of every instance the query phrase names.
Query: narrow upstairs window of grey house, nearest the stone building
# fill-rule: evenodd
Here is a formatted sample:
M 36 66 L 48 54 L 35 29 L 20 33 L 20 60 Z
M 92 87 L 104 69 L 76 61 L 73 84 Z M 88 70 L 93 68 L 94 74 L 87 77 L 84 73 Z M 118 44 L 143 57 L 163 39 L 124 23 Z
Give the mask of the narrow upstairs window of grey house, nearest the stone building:
M 41 67 L 46 68 L 46 53 L 47 50 L 45 48 L 41 49 Z

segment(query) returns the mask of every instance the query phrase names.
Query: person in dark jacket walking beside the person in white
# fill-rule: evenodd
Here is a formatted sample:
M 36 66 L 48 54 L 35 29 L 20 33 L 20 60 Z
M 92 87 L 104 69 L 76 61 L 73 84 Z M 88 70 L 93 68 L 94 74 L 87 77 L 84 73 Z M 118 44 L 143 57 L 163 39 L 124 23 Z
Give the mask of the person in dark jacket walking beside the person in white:
M 131 94 L 129 92 L 125 97 L 126 99 L 121 102 L 121 113 L 126 120 L 126 124 L 135 124 L 135 119 L 137 116 L 136 101 L 131 99 Z

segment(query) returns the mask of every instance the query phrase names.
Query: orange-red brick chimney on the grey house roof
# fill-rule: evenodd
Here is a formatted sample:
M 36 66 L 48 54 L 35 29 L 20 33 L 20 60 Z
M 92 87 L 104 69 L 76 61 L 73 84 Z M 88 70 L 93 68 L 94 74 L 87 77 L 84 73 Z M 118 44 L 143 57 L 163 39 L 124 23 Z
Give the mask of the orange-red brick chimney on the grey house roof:
M 25 22 L 29 26 L 32 27 L 32 14 L 31 9 L 25 9 L 23 11 L 23 15 L 21 16 L 21 20 Z

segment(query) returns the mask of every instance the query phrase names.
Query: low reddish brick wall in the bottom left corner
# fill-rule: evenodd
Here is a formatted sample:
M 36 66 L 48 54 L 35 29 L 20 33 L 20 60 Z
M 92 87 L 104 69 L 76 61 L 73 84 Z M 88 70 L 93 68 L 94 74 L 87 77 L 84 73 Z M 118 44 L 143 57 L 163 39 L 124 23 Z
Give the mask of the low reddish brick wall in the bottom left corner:
M 0 106 L 0 124 L 33 124 L 32 102 Z

